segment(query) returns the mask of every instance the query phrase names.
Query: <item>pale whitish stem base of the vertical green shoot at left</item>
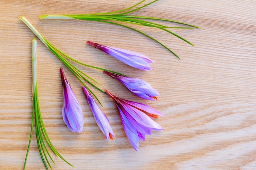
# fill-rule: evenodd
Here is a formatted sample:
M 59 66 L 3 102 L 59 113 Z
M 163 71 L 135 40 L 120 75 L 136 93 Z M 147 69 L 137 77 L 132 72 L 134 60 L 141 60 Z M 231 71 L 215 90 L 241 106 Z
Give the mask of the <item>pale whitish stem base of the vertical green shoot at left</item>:
M 36 89 L 36 39 L 32 40 L 32 96 Z

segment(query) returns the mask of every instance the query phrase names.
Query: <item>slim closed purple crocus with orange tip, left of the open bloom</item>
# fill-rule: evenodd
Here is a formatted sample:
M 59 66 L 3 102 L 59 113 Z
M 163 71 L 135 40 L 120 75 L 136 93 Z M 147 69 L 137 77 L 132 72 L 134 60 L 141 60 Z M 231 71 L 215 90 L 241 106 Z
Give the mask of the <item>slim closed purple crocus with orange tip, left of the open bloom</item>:
M 92 97 L 91 93 L 84 86 L 83 86 L 83 92 L 84 92 L 85 96 L 87 97 L 88 104 L 92 110 L 92 114 L 93 114 L 94 119 L 95 119 L 96 123 L 98 124 L 99 128 L 105 134 L 106 139 L 108 139 L 108 137 L 110 137 L 110 139 L 113 140 L 115 135 L 110 126 L 108 117 L 102 112 L 102 110 L 99 108 L 99 106 L 95 102 L 94 98 Z

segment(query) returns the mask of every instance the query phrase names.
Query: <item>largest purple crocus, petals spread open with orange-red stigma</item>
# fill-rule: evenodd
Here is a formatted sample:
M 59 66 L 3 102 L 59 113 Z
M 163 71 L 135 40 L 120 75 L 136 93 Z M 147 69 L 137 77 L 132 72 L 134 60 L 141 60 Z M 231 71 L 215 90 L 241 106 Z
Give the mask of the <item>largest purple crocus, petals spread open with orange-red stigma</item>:
M 108 91 L 105 92 L 115 102 L 119 110 L 124 131 L 136 151 L 139 148 L 139 141 L 144 141 L 146 139 L 145 135 L 150 135 L 151 130 L 164 130 L 164 128 L 149 117 L 158 118 L 158 116 L 164 116 L 159 111 L 145 104 L 131 102 L 116 97 Z

